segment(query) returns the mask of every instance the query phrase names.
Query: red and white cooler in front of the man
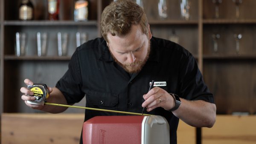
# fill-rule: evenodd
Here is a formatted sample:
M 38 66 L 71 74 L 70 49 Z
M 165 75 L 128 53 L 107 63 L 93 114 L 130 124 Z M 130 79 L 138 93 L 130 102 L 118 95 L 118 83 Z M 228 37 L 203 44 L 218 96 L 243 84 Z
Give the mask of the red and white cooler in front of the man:
M 96 116 L 84 122 L 83 144 L 170 144 L 169 124 L 159 115 Z

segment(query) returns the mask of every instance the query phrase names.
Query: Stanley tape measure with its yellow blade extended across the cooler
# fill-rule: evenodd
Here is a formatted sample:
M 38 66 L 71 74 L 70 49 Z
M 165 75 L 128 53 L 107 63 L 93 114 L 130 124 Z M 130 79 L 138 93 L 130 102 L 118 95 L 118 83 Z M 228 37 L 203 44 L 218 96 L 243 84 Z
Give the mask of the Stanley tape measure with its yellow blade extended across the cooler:
M 109 109 L 96 109 L 96 108 L 90 108 L 90 107 L 78 107 L 78 106 L 70 106 L 65 104 L 47 103 L 46 100 L 49 97 L 49 92 L 46 84 L 34 84 L 32 86 L 29 85 L 28 89 L 34 92 L 33 95 L 29 95 L 29 96 L 35 97 L 34 101 L 27 101 L 28 104 L 38 104 L 38 105 L 47 104 L 47 105 L 60 106 L 60 107 L 73 107 L 73 108 L 79 108 L 79 109 L 90 109 L 90 110 L 98 110 L 98 111 L 105 111 L 105 112 L 125 113 L 130 115 L 148 115 L 148 114 L 136 113 L 136 112 L 123 112 L 123 111 L 116 111 L 116 110 L 109 110 Z

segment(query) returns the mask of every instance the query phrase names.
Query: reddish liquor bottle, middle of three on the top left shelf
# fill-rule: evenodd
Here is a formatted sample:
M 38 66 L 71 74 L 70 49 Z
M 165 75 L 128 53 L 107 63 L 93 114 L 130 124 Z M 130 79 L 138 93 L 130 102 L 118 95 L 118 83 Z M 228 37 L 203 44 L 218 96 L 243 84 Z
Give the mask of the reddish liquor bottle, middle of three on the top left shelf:
M 60 0 L 48 0 L 48 19 L 59 20 Z

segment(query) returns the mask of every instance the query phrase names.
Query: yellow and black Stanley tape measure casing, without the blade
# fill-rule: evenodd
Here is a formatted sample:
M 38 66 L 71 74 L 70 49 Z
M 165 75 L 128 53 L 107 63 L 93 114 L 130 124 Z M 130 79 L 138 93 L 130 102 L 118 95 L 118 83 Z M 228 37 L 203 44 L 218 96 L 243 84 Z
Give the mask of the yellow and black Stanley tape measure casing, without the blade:
M 38 104 L 38 105 L 44 105 L 44 102 L 46 102 L 46 99 L 49 97 L 49 92 L 46 84 L 34 84 L 34 85 L 28 85 L 27 87 L 29 90 L 34 92 L 33 95 L 35 100 L 34 101 L 27 101 L 28 104 Z

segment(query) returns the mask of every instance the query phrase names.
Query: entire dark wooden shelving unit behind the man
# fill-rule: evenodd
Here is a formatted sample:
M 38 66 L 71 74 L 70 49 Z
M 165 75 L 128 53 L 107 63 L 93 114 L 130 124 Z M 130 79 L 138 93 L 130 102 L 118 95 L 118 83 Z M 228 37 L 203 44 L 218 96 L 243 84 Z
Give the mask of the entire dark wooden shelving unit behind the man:
M 88 39 L 100 37 L 102 10 L 112 0 L 89 0 L 89 20 L 73 21 L 74 0 L 61 0 L 60 20 L 49 21 L 46 0 L 31 0 L 36 6 L 35 20 L 17 19 L 20 0 L 0 0 L 0 113 L 38 112 L 20 100 L 20 87 L 24 78 L 37 83 L 55 86 L 66 72 L 68 61 L 76 48 L 76 32 L 87 32 Z M 236 17 L 236 5 L 232 0 L 222 0 L 219 18 L 215 18 L 212 0 L 190 0 L 190 18 L 180 16 L 180 0 L 167 0 L 168 17 L 158 17 L 157 0 L 144 0 L 144 10 L 153 36 L 169 39 L 173 32 L 180 38 L 179 44 L 197 59 L 204 81 L 215 95 L 217 114 L 233 112 L 256 113 L 256 6 L 255 0 L 243 0 Z M 35 53 L 36 32 L 49 33 L 48 53 L 38 57 Z M 26 56 L 16 57 L 15 32 L 29 34 Z M 68 55 L 57 55 L 57 32 L 68 32 Z M 212 35 L 219 34 L 217 52 Z M 235 34 L 241 34 L 239 53 L 236 52 Z M 81 103 L 84 104 L 84 101 Z M 70 111 L 67 111 L 70 112 Z M 78 111 L 81 112 L 81 111 Z

